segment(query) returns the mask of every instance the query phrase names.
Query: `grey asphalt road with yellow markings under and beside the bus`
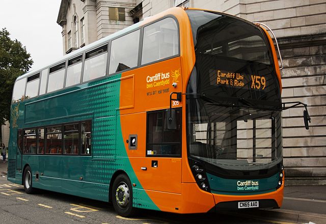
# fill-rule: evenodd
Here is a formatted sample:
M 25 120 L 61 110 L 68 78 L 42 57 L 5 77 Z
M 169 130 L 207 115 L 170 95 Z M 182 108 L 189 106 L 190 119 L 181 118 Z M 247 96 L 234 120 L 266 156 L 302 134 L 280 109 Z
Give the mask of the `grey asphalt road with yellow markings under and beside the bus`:
M 179 215 L 139 210 L 133 218 L 118 216 L 110 203 L 40 190 L 26 194 L 23 187 L 0 176 L 1 223 L 278 223 L 223 213 Z M 268 219 L 268 218 L 266 218 Z

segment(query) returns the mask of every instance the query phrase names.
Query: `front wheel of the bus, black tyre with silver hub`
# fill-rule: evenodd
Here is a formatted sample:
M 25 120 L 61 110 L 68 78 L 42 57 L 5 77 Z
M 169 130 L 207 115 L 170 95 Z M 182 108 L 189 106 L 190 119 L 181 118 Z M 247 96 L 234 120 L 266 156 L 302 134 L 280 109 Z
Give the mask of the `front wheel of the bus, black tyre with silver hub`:
M 132 186 L 125 174 L 120 174 L 113 182 L 112 204 L 116 212 L 123 217 L 132 216 L 136 208 L 132 207 Z

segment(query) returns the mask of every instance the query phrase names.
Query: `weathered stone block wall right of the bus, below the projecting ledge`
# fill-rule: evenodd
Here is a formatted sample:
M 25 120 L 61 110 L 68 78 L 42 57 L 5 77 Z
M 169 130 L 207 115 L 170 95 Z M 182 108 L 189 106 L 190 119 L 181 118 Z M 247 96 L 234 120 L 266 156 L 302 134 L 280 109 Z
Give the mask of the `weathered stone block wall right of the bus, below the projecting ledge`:
M 282 100 L 307 103 L 311 116 L 306 130 L 303 106 L 283 111 L 287 184 L 326 184 L 326 34 L 280 38 L 279 42 L 285 66 Z

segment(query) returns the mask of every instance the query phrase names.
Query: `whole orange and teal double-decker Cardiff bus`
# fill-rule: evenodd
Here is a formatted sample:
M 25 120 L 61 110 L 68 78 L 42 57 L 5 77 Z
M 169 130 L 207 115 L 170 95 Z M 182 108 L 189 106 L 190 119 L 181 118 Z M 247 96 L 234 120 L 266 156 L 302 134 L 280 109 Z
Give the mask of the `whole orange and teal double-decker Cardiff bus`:
M 8 180 L 123 216 L 279 208 L 281 90 L 261 24 L 172 8 L 17 78 Z

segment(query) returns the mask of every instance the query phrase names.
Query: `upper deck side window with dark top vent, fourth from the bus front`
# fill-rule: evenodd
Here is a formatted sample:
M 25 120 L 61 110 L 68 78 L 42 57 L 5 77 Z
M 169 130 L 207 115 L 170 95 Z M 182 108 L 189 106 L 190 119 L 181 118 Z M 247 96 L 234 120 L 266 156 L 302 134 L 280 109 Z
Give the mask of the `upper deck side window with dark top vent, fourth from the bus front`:
M 68 60 L 68 69 L 66 76 L 66 87 L 76 85 L 80 82 L 80 75 L 82 74 L 83 55 Z

